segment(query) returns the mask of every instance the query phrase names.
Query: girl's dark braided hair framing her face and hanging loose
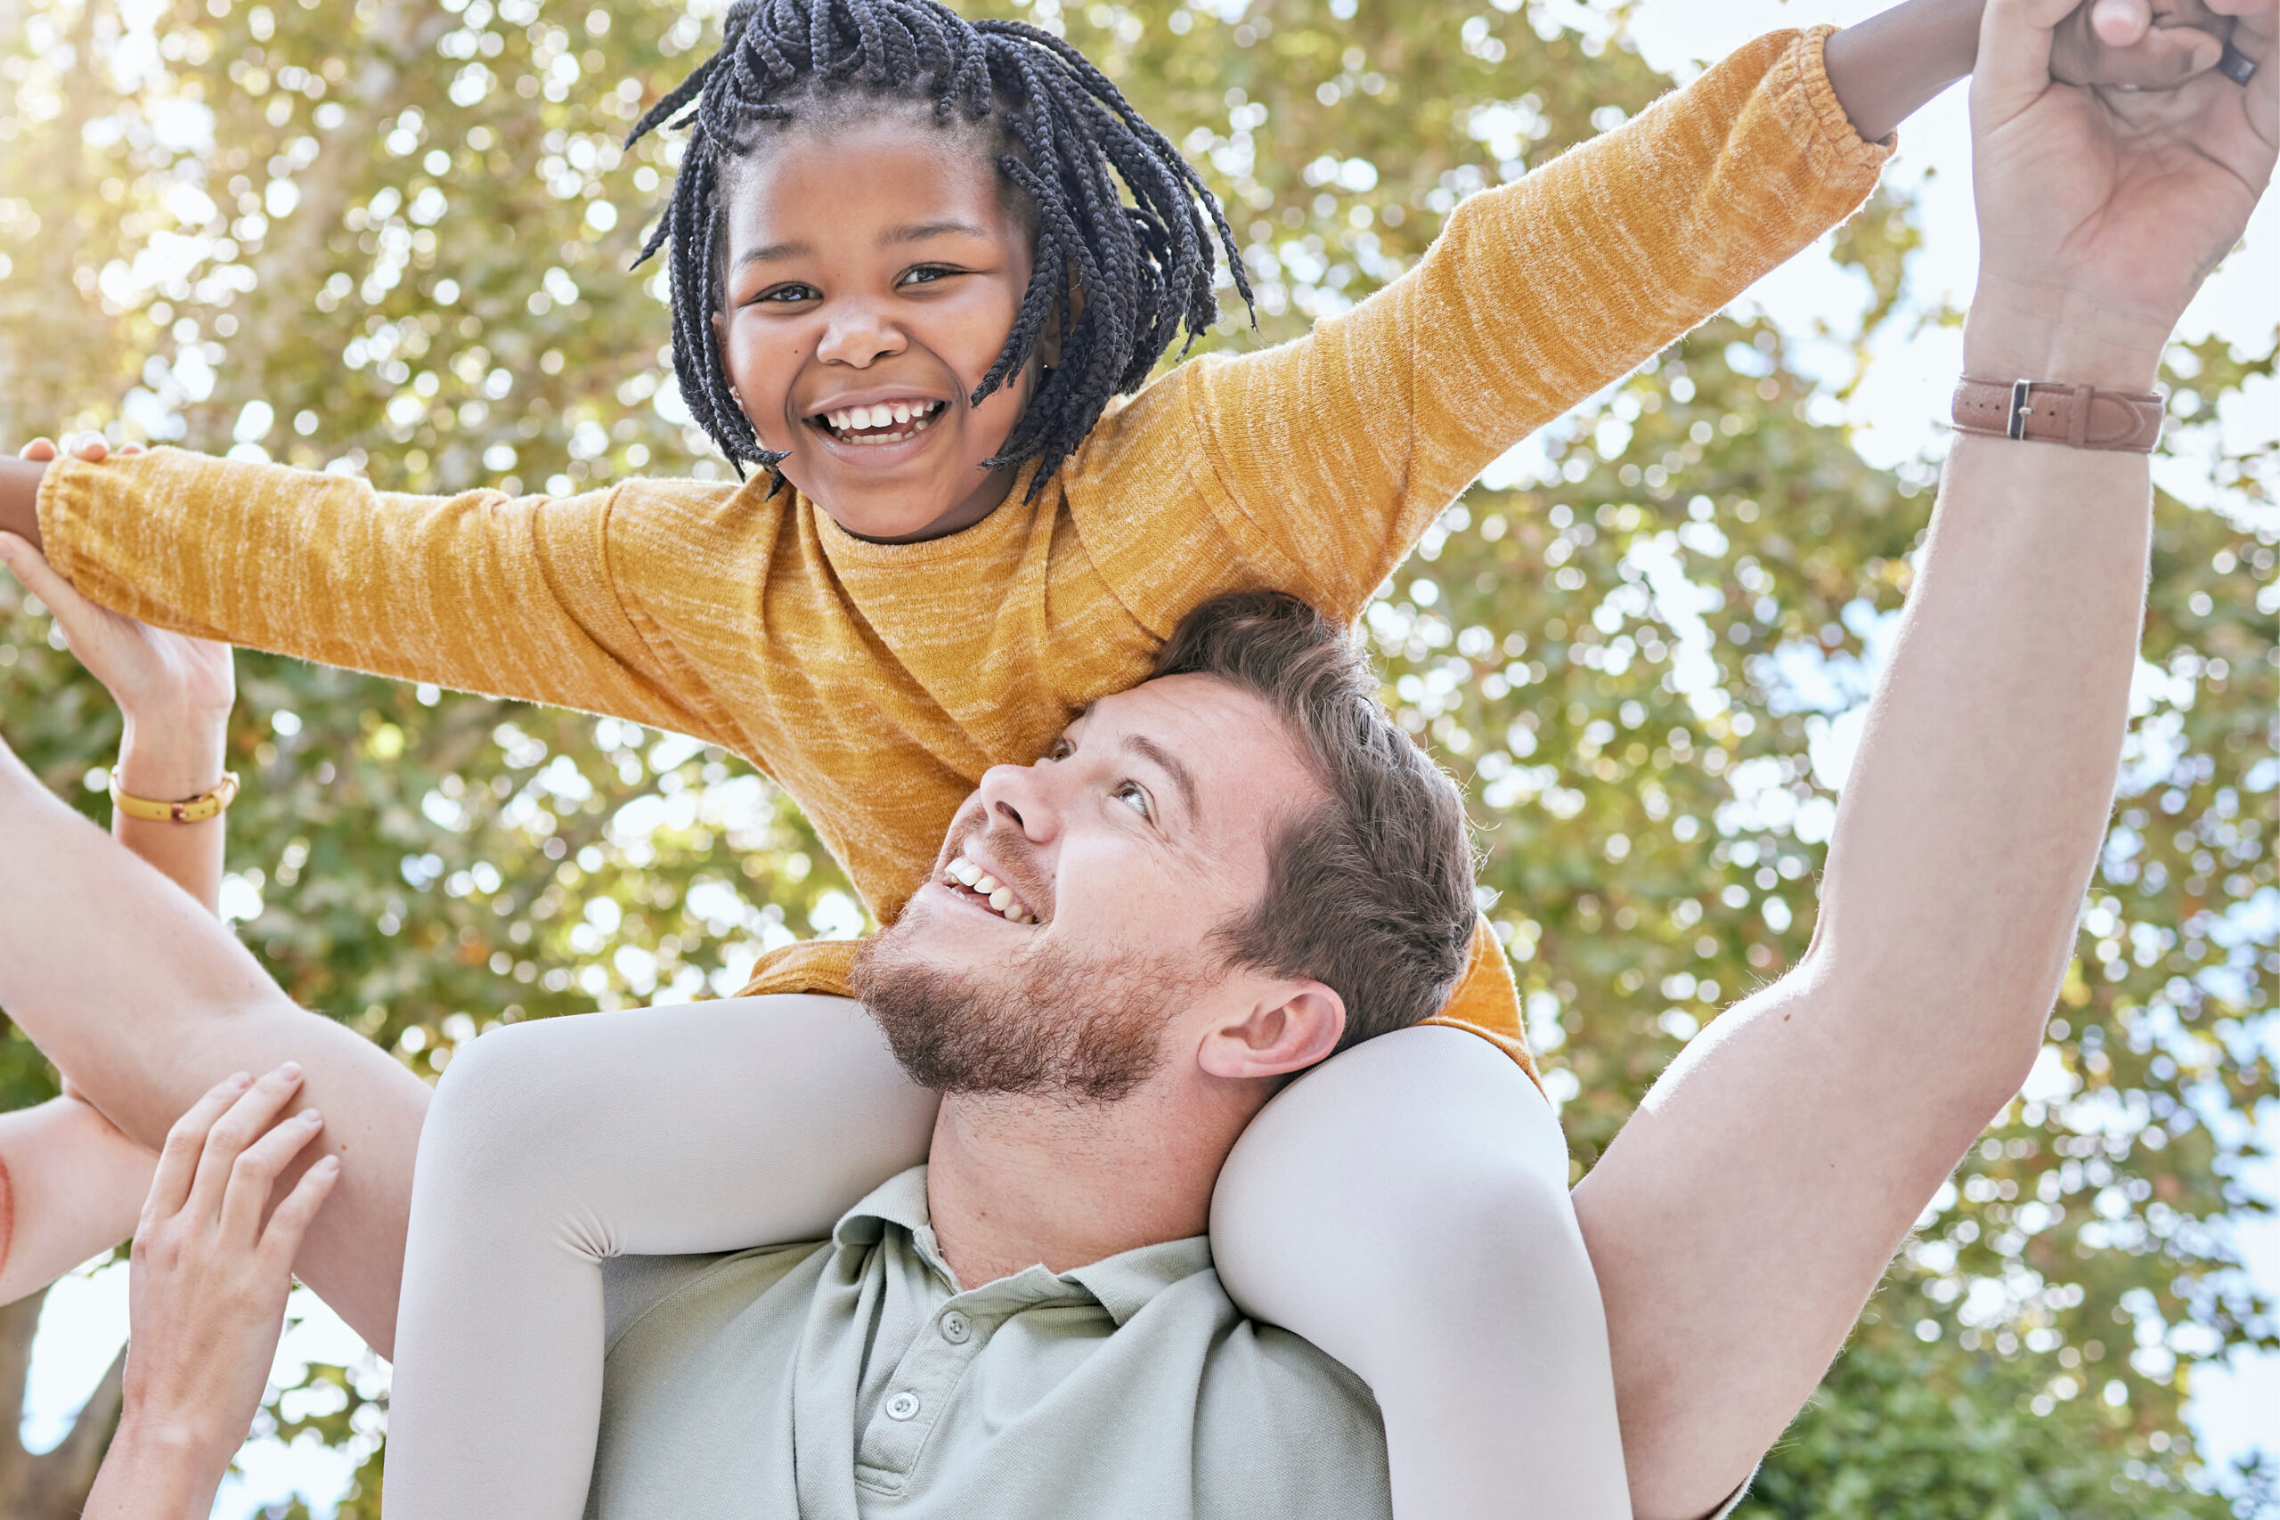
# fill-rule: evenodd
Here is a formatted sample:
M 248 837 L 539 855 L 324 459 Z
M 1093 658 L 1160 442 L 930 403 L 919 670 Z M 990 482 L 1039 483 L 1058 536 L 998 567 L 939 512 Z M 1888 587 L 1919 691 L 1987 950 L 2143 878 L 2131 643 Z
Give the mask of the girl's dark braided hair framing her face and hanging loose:
M 1213 324 L 1220 248 L 1249 308 L 1252 287 L 1218 198 L 1108 75 L 1051 32 L 1019 21 L 969 23 L 937 0 L 736 0 L 723 32 L 720 52 L 659 100 L 627 146 L 659 125 L 695 123 L 666 214 L 634 267 L 670 239 L 673 367 L 691 415 L 739 474 L 750 460 L 782 485 L 784 456 L 759 447 L 714 335 L 727 273 L 723 189 L 727 171 L 757 150 L 759 123 L 791 121 L 796 105 L 837 114 L 839 96 L 912 100 L 930 105 L 944 128 L 994 130 L 999 173 L 1028 198 L 1037 244 L 1021 312 L 969 403 L 1019 374 L 1047 319 L 1058 317 L 1062 365 L 1042 376 L 1003 451 L 985 465 L 1042 460 L 1031 497 L 1110 397 L 1140 390 L 1181 326 L 1192 344 Z

